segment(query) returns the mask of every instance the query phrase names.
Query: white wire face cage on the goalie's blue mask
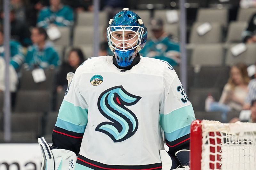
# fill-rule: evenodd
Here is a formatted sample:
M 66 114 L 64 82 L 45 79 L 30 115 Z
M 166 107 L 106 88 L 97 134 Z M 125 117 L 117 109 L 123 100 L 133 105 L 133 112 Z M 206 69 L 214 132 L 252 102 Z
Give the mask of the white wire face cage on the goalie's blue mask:
M 134 31 L 136 30 L 137 31 Z M 114 30 L 111 32 L 111 30 Z M 116 39 L 113 36 L 113 33 L 122 31 L 122 39 Z M 131 31 L 135 33 L 130 39 L 125 38 L 125 31 Z M 110 49 L 113 51 L 114 49 L 118 51 L 129 51 L 131 49 L 136 49 L 141 44 L 142 34 L 144 33 L 144 28 L 141 26 L 109 26 L 107 28 L 107 36 L 108 36 L 108 45 Z M 133 40 L 133 43 L 129 43 L 128 41 Z M 135 40 L 136 39 L 136 40 Z M 114 42 L 114 41 L 116 42 Z

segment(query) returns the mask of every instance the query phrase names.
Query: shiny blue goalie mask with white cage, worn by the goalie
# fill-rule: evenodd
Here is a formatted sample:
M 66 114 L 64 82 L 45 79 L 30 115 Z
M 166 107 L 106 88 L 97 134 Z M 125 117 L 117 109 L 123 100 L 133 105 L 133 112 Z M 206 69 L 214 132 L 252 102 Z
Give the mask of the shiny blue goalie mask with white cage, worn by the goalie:
M 115 54 L 119 66 L 131 65 L 137 53 L 144 48 L 147 34 L 142 19 L 128 8 L 110 19 L 107 28 L 108 46 Z

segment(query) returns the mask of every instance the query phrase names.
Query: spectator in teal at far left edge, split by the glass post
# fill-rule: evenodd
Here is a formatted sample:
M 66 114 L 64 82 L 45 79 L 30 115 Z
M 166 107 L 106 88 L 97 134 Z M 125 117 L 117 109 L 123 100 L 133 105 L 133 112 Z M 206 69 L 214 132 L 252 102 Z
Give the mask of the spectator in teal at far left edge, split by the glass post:
M 4 58 L 4 33 L 3 30 L 0 28 L 0 57 Z M 11 52 L 11 59 L 10 64 L 13 68 L 18 71 L 20 66 L 24 63 L 25 57 L 22 53 L 22 46 L 18 41 L 10 41 L 10 52 Z

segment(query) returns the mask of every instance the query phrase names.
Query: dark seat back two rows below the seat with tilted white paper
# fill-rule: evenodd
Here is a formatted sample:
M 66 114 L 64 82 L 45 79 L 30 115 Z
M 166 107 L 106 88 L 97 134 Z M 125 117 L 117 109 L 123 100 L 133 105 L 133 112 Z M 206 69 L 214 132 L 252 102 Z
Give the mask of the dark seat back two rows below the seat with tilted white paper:
M 200 69 L 196 87 L 222 89 L 228 82 L 229 71 L 229 66 L 203 66 Z

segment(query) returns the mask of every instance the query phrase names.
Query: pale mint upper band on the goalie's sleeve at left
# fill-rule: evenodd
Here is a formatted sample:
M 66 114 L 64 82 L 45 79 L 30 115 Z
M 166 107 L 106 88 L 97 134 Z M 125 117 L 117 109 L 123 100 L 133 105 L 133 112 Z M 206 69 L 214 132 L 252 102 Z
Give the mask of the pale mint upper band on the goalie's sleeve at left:
M 58 118 L 75 125 L 84 126 L 88 122 L 87 113 L 88 109 L 75 106 L 73 103 L 63 100 Z

